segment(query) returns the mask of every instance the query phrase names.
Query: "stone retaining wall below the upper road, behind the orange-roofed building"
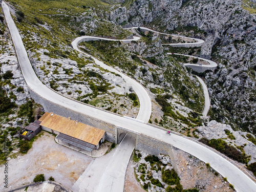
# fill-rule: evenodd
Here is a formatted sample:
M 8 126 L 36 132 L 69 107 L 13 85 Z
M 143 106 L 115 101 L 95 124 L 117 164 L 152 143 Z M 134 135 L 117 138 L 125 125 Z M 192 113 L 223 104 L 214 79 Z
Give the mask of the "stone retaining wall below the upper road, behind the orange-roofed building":
M 33 92 L 33 90 L 29 90 L 29 91 L 34 101 L 41 104 L 44 107 L 45 111 L 52 112 L 66 118 L 71 117 L 71 119 L 73 120 L 77 120 L 81 123 L 94 126 L 100 130 L 104 130 L 105 132 L 108 132 L 108 134 L 105 135 L 105 140 L 117 143 L 117 129 L 115 125 L 105 123 L 104 121 L 101 121 L 99 119 L 89 117 L 84 114 L 80 114 L 78 112 L 69 110 L 67 108 L 63 108 L 62 106 L 59 106 L 55 103 L 52 103 L 51 101 L 41 98 L 39 95 Z M 49 131 L 49 130 L 46 130 L 46 131 Z M 52 131 L 50 130 L 49 132 L 52 132 Z

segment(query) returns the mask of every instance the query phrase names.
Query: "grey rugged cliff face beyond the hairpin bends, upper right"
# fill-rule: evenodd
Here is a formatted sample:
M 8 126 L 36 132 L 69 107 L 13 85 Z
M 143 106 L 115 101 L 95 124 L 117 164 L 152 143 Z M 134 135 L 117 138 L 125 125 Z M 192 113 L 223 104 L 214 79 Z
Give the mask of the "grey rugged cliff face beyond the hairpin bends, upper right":
M 204 38 L 201 55 L 219 63 L 204 76 L 212 118 L 256 133 L 256 16 L 242 8 L 241 0 L 141 0 L 120 10 L 110 17 L 117 24 Z

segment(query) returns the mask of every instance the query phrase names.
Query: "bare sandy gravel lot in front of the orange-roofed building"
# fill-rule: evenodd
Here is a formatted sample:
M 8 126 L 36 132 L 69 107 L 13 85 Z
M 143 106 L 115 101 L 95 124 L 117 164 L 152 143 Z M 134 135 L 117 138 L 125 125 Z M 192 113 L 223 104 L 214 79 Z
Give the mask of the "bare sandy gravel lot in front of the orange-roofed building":
M 54 136 L 44 134 L 33 143 L 26 155 L 8 161 L 8 190 L 33 182 L 37 174 L 52 176 L 67 188 L 75 183 L 84 172 L 92 157 L 83 155 L 54 141 Z M 0 178 L 4 178 L 4 165 L 0 166 Z M 4 184 L 0 191 L 7 191 Z

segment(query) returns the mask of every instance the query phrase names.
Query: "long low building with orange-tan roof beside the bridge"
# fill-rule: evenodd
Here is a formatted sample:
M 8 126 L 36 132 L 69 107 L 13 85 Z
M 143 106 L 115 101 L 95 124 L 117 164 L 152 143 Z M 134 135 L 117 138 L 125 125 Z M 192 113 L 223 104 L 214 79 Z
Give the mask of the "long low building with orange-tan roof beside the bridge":
M 81 150 L 97 150 L 105 139 L 105 131 L 54 113 L 45 113 L 39 120 L 42 130 L 57 134 L 56 139 Z

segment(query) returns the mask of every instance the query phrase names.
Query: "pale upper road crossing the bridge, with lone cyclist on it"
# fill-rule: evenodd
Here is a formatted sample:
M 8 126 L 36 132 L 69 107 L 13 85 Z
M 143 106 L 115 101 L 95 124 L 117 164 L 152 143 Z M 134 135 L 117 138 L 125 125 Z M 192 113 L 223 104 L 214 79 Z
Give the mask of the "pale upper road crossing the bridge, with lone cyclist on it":
M 165 131 L 156 129 L 151 125 L 92 108 L 88 105 L 84 105 L 80 102 L 63 97 L 46 87 L 39 81 L 31 66 L 26 49 L 22 42 L 22 38 L 20 37 L 13 22 L 8 6 L 2 2 L 2 7 L 11 33 L 20 68 L 22 69 L 22 73 L 27 85 L 31 90 L 36 92 L 41 97 L 67 108 L 67 110 L 72 110 L 74 112 L 98 118 L 106 123 L 122 126 L 128 131 L 138 132 L 168 144 L 172 144 L 173 146 L 180 148 L 181 150 L 199 158 L 200 160 L 210 163 L 212 168 L 217 170 L 217 172 L 219 172 L 222 176 L 227 177 L 228 181 L 234 185 L 237 191 L 255 192 L 256 183 L 245 175 L 237 166 L 233 165 L 209 148 L 177 134 L 167 136 Z

